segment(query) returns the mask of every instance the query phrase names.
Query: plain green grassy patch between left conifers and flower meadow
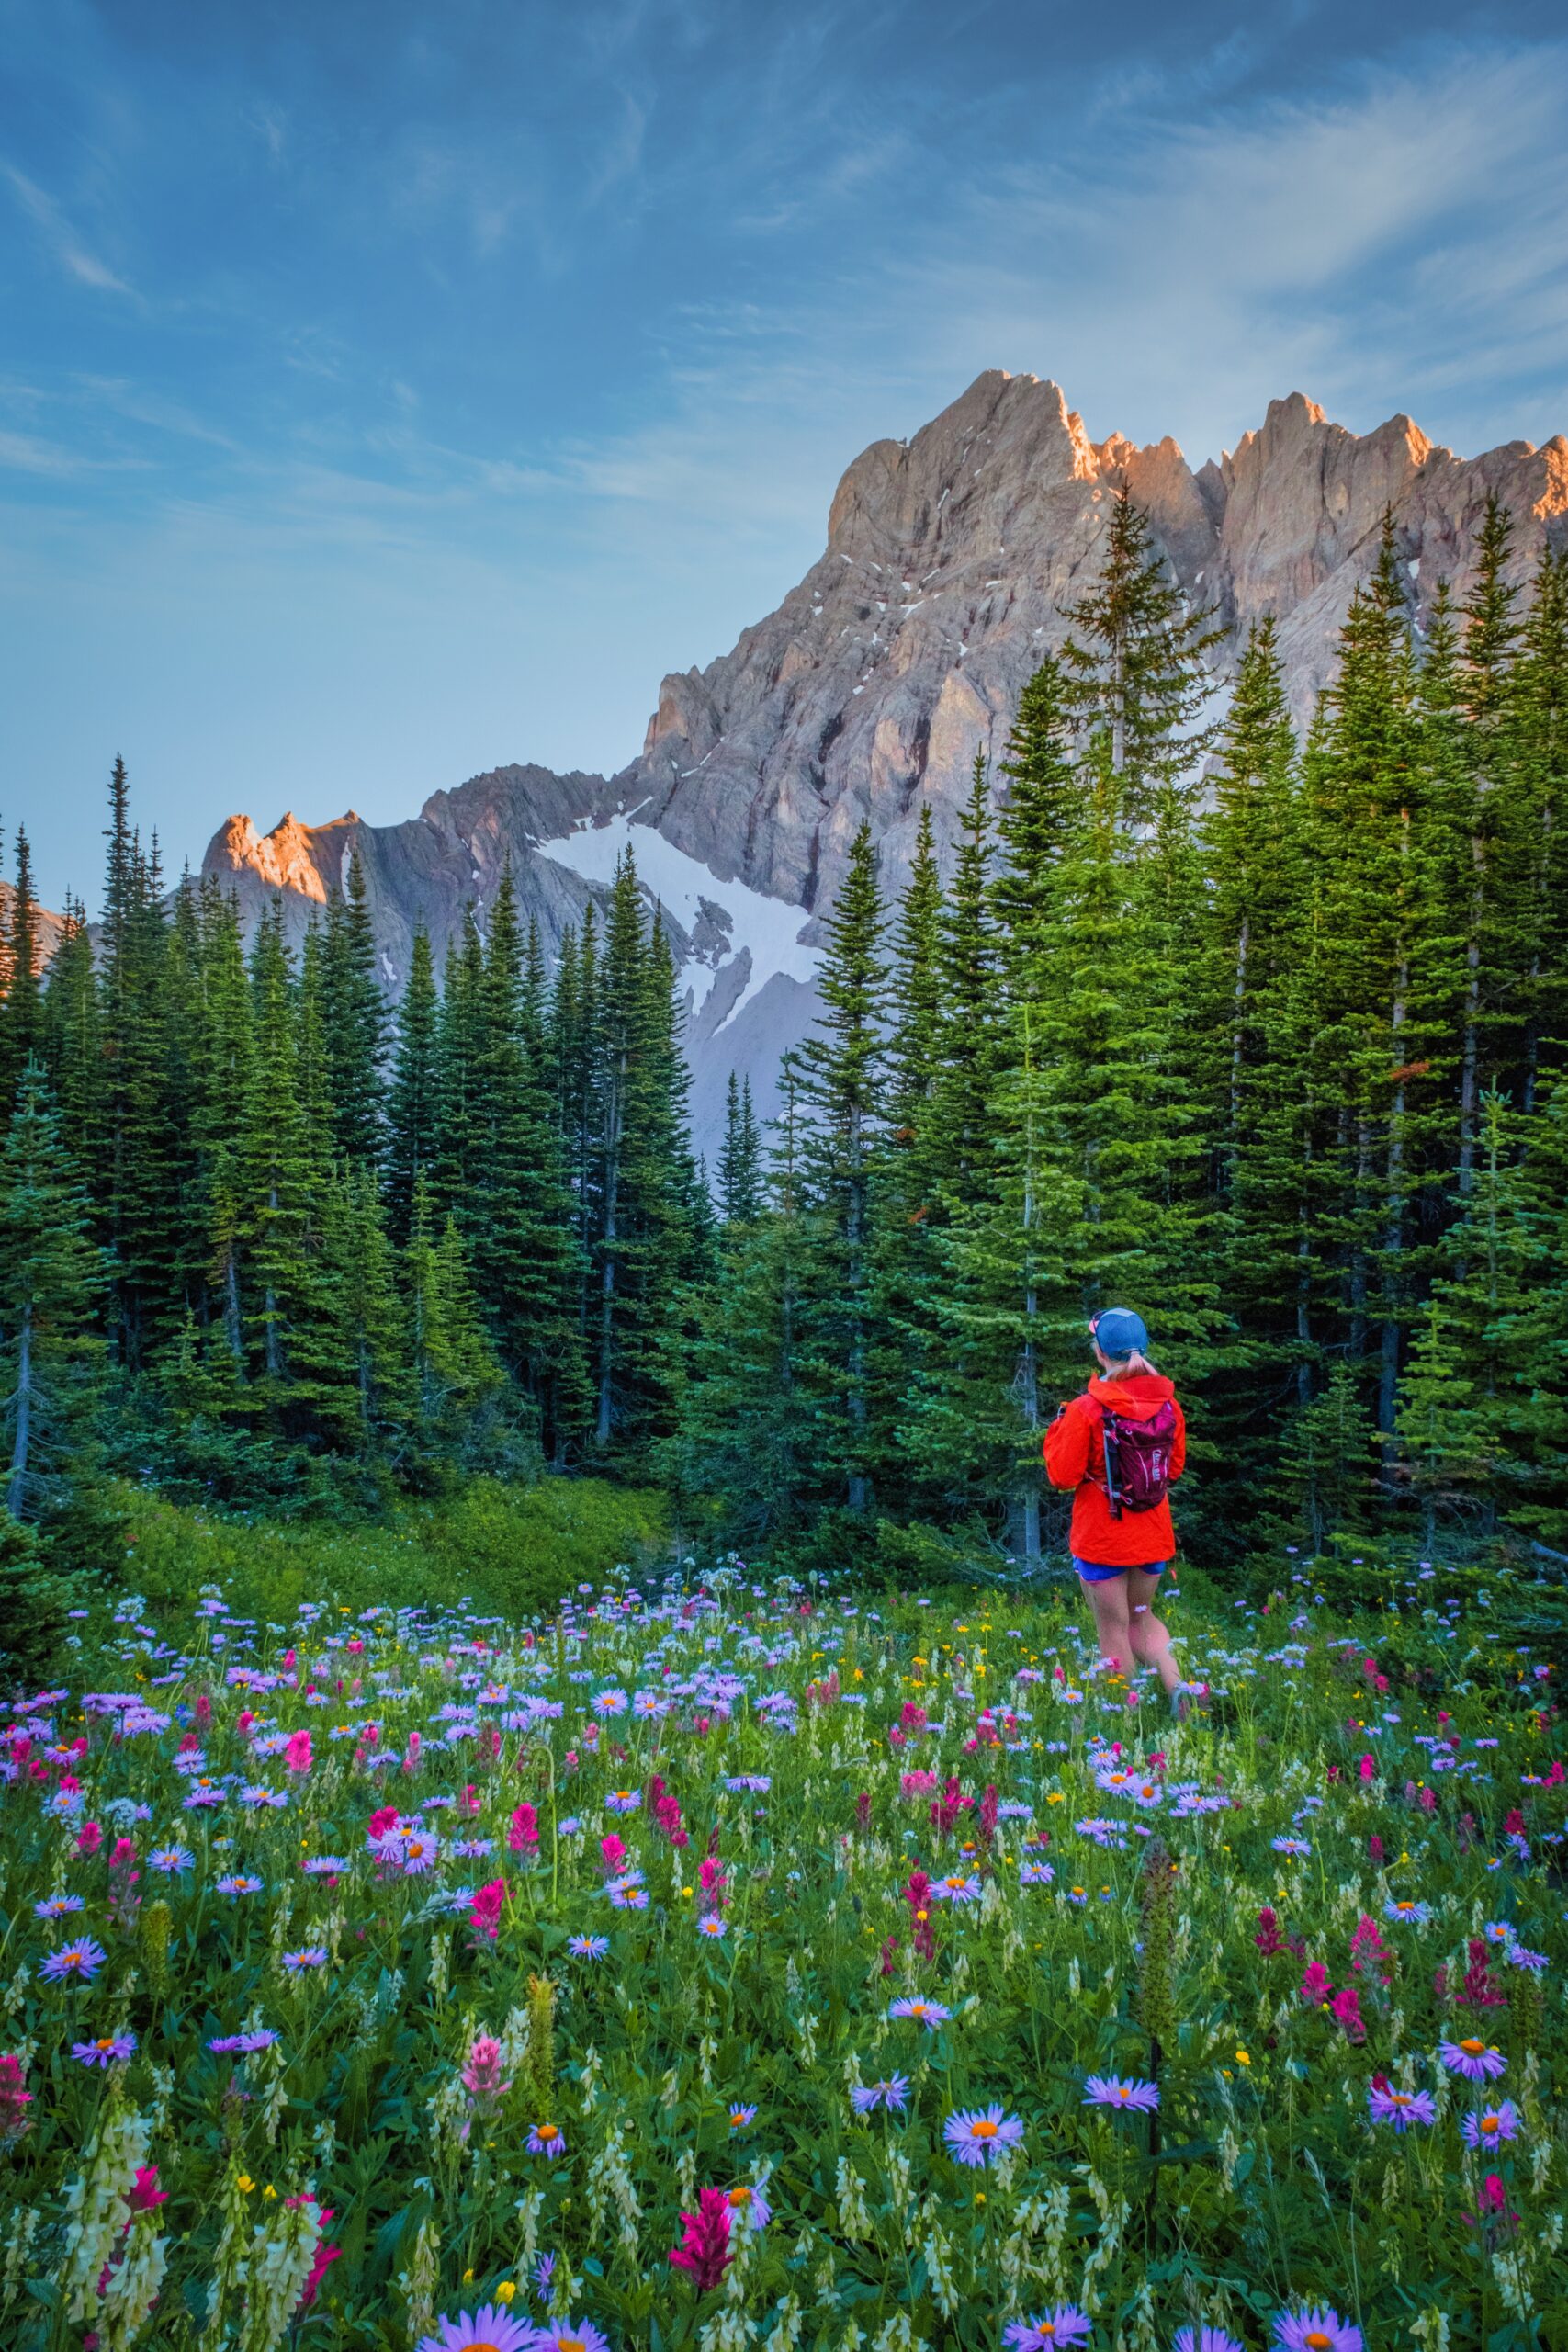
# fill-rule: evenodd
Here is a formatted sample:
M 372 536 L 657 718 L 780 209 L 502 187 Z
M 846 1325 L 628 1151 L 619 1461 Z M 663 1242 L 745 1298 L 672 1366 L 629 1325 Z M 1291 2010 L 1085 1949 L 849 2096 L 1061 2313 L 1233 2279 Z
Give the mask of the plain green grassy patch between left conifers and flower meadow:
M 578 1583 L 668 1555 L 665 1498 L 607 1479 L 510 1486 L 473 1479 L 433 1503 L 404 1503 L 362 1526 L 221 1517 L 127 1489 L 118 1541 L 101 1562 L 162 1616 L 188 1616 L 202 1585 L 223 1585 L 247 1616 L 289 1621 L 301 1599 L 331 1592 L 350 1609 L 447 1606 L 527 1618 Z

